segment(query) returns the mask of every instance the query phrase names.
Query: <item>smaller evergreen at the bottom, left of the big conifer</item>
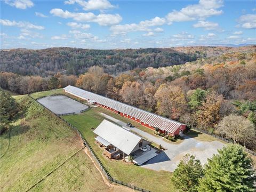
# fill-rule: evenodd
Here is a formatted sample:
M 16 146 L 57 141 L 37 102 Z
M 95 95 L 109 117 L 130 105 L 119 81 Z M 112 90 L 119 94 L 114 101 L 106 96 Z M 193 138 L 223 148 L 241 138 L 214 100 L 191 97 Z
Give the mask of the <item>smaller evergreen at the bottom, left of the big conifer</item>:
M 180 191 L 197 191 L 198 179 L 203 177 L 203 168 L 195 156 L 186 154 L 174 170 L 172 181 Z

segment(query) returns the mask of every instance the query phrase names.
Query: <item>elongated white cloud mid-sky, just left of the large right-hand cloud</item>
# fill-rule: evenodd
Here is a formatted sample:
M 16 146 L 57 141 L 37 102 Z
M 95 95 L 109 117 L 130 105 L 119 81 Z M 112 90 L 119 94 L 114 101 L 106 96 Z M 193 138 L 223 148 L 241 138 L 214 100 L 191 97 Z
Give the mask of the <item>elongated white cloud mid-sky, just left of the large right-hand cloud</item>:
M 141 21 L 138 24 L 131 23 L 131 24 L 125 24 L 125 25 L 115 25 L 111 26 L 110 30 L 113 32 L 113 35 L 119 35 L 119 34 L 127 34 L 129 32 L 134 31 L 151 31 L 150 27 L 154 26 L 162 26 L 165 23 L 164 18 L 155 17 L 150 20 Z M 160 30 L 161 28 L 158 28 L 157 30 Z

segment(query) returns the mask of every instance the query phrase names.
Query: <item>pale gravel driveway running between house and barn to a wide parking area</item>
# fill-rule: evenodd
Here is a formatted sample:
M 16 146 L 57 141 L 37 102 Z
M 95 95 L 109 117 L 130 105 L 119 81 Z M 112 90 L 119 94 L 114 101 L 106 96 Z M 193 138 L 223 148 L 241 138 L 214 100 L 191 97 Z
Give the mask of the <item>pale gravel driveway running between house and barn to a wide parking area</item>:
M 101 115 L 118 125 L 126 127 L 126 123 L 119 121 L 116 118 L 103 113 L 101 113 Z M 188 136 L 184 136 L 185 140 L 183 140 L 180 144 L 172 144 L 163 140 L 161 137 L 151 135 L 147 132 L 137 129 L 136 127 L 129 127 L 129 129 L 151 142 L 162 145 L 162 147 L 166 149 L 156 157 L 141 165 L 142 167 L 156 171 L 165 170 L 173 172 L 178 166 L 182 157 L 186 154 L 194 155 L 201 161 L 202 164 L 205 164 L 207 162 L 207 158 L 211 158 L 213 154 L 218 153 L 218 149 L 221 149 L 223 146 L 225 146 L 225 144 L 220 141 L 199 141 Z

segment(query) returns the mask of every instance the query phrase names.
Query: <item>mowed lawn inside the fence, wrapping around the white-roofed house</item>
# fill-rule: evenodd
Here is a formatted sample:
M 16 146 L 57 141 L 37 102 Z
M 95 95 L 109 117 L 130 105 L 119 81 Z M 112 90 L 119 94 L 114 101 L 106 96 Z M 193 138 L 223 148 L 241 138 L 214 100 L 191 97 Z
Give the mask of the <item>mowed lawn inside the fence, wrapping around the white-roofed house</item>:
M 116 161 L 103 157 L 102 149 L 94 143 L 95 134 L 93 133 L 93 129 L 95 129 L 104 119 L 104 117 L 99 113 L 102 112 L 102 110 L 105 114 L 108 114 L 108 112 L 112 113 L 111 111 L 97 107 L 91 108 L 80 115 L 63 116 L 63 118 L 81 131 L 100 158 L 101 162 L 115 179 L 122 180 L 123 182 L 127 182 L 150 191 L 176 191 L 173 183 L 171 182 L 171 172 L 149 170 L 133 164 L 127 164 L 122 160 Z M 129 119 L 127 120 L 129 121 Z

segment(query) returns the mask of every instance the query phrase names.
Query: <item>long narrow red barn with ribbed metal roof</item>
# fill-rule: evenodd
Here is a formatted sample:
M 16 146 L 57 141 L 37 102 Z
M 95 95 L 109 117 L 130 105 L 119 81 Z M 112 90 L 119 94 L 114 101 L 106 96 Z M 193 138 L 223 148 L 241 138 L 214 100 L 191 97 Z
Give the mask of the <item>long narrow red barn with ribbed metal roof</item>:
M 186 125 L 169 118 L 165 118 L 148 111 L 132 107 L 125 103 L 103 97 L 101 95 L 79 89 L 75 86 L 67 86 L 63 90 L 69 94 L 72 94 L 78 98 L 90 101 L 96 105 L 113 111 L 116 114 L 132 119 L 146 126 L 150 129 L 155 130 L 157 127 L 162 133 L 169 135 L 179 135 L 186 129 Z

